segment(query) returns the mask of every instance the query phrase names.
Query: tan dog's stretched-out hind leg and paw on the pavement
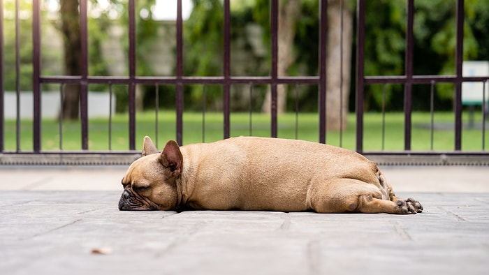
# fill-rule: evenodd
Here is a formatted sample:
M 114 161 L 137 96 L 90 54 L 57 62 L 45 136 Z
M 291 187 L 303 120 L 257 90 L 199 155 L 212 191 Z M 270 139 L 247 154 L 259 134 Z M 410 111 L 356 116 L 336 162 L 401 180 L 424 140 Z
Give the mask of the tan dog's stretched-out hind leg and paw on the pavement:
M 382 198 L 377 186 L 358 179 L 330 179 L 324 184 L 312 184 L 309 205 L 319 213 L 388 213 L 416 214 L 423 211 L 414 199 L 391 195 Z

